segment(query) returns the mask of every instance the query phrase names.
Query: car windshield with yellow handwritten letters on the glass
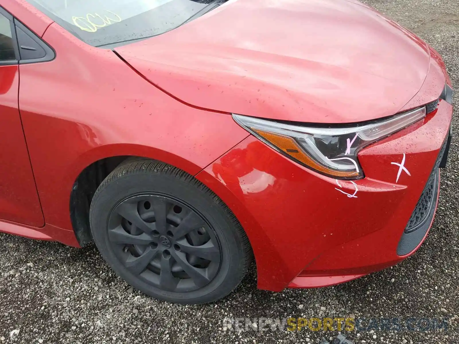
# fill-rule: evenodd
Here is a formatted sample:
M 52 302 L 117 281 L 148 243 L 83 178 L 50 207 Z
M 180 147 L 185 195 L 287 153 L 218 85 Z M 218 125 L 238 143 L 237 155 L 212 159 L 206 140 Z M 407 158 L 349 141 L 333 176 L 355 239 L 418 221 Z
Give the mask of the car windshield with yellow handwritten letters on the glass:
M 165 33 L 224 2 L 224 0 L 27 1 L 79 39 L 93 46 L 122 44 Z

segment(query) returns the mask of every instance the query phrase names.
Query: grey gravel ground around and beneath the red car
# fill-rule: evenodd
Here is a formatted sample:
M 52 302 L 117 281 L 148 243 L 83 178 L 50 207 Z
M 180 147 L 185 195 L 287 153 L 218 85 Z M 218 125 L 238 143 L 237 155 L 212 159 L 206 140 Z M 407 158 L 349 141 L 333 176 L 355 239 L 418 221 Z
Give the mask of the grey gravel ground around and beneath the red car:
M 366 0 L 418 33 L 443 56 L 459 85 L 459 0 Z M 459 109 L 459 92 L 454 98 Z M 457 113 L 453 129 L 459 129 Z M 244 331 L 225 317 L 447 318 L 448 331 L 353 331 L 355 343 L 459 343 L 459 142 L 442 171 L 430 236 L 401 264 L 340 286 L 271 293 L 256 289 L 255 270 L 216 304 L 182 306 L 133 291 L 94 245 L 78 250 L 0 234 L 0 343 L 300 343 L 312 331 Z M 226 330 L 226 331 L 225 331 Z M 19 332 L 17 332 L 19 331 Z M 338 333 L 327 333 L 335 337 Z

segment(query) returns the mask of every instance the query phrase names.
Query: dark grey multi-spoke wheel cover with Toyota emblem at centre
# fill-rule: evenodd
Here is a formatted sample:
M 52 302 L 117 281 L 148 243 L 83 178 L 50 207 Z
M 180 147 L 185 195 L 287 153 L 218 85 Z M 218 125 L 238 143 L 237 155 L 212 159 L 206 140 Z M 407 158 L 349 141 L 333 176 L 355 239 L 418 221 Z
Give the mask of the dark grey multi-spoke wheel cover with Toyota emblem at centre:
M 163 194 L 129 197 L 108 220 L 110 249 L 135 277 L 162 290 L 200 289 L 217 275 L 221 249 L 205 218 Z

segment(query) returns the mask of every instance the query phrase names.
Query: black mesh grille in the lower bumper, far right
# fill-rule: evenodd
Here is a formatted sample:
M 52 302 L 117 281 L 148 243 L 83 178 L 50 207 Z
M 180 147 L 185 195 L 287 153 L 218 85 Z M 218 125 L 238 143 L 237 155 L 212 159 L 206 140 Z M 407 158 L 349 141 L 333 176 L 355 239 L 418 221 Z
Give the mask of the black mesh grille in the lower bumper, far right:
M 419 198 L 413 214 L 411 214 L 408 224 L 405 227 L 405 233 L 416 230 L 424 221 L 428 220 L 430 217 L 429 215 L 432 213 L 431 209 L 435 206 L 435 202 L 437 202 L 436 189 L 438 189 L 438 175 L 440 174 L 440 170 L 438 168 L 440 166 L 440 162 L 442 161 L 443 154 L 445 153 L 447 142 L 448 140 L 445 140 L 445 143 L 438 154 L 433 171 L 427 180 L 421 197 Z

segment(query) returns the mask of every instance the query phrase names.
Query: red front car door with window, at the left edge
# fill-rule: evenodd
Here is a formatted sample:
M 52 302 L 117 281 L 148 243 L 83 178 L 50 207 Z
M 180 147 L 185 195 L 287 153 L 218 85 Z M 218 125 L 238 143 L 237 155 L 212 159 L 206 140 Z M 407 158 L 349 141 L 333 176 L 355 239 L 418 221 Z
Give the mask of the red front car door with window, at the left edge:
M 0 221 L 42 227 L 45 219 L 18 107 L 19 60 L 13 18 L 0 7 Z

